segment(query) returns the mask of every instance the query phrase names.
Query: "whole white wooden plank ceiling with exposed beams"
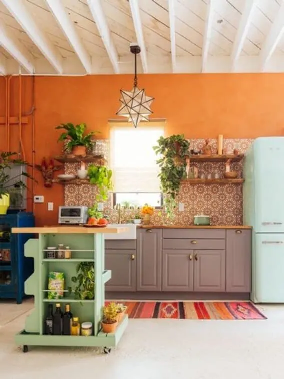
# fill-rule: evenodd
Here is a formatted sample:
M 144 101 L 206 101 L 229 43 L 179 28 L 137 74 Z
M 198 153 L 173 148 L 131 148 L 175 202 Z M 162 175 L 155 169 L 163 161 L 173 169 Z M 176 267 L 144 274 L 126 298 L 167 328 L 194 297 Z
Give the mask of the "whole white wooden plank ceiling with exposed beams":
M 132 74 L 137 41 L 139 73 L 284 72 L 282 0 L 0 0 L 0 27 L 0 75 Z

